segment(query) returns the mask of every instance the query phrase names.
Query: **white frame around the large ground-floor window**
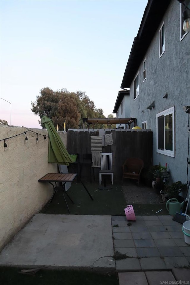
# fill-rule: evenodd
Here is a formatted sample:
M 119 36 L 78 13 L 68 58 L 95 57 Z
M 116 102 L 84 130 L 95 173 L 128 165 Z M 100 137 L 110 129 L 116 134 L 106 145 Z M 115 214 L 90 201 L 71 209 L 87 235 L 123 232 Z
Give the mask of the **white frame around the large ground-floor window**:
M 165 117 L 166 115 L 170 115 L 170 114 L 172 114 L 172 146 L 173 146 L 172 151 L 165 149 L 165 147 L 164 147 L 164 150 L 158 148 L 158 118 L 161 116 Z M 174 107 L 171 107 L 167 110 L 164 110 L 156 114 L 156 151 L 158 153 L 162 153 L 164 155 L 172 156 L 172 157 L 175 157 L 175 128 L 174 128 L 175 124 L 174 122 L 175 122 Z M 165 132 L 164 132 L 164 137 L 165 137 Z M 164 140 L 164 143 L 165 143 L 165 140 Z

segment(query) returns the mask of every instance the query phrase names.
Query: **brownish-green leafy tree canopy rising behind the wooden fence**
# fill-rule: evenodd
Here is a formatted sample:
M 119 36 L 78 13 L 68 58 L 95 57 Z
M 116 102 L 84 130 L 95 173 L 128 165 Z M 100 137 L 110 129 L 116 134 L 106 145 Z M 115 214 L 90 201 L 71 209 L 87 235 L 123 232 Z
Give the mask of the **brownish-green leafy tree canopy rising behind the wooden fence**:
M 31 111 L 42 118 L 46 115 L 59 130 L 83 127 L 83 118 L 105 118 L 102 109 L 97 109 L 94 102 L 83 91 L 69 92 L 67 89 L 53 91 L 49 87 L 42 88 L 35 102 L 31 102 Z M 113 116 L 113 115 L 112 115 Z M 41 119 L 39 120 L 41 124 Z M 43 127 L 43 126 L 42 126 Z M 86 126 L 87 127 L 87 126 Z M 106 128 L 107 125 L 94 124 L 94 128 Z

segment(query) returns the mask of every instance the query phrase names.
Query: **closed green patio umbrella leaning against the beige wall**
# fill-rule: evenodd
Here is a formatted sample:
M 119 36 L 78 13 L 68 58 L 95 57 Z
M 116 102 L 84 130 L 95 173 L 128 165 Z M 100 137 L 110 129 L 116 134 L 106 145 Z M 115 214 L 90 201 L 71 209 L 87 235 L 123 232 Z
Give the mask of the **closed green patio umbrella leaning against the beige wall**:
M 42 124 L 47 129 L 49 136 L 48 162 L 65 165 L 73 163 L 72 157 L 66 150 L 61 137 L 58 135 L 51 119 L 45 115 L 42 116 Z

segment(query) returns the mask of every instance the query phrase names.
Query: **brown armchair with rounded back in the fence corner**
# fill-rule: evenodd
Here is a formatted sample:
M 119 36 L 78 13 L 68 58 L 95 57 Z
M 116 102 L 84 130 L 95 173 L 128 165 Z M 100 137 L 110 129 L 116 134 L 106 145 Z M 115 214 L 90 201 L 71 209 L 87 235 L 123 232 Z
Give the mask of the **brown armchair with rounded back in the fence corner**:
M 138 185 L 140 181 L 140 173 L 144 167 L 144 162 L 140 158 L 128 158 L 123 164 L 123 178 L 136 179 Z

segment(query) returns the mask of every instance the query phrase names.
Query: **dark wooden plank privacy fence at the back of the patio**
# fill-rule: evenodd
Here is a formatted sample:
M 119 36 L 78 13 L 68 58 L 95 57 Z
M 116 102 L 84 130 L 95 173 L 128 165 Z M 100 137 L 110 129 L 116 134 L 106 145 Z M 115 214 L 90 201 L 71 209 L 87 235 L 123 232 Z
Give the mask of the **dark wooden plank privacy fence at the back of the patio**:
M 102 132 L 103 131 L 103 132 Z M 139 129 L 75 129 L 67 132 L 67 151 L 69 153 L 78 153 L 79 160 L 82 162 L 84 153 L 91 153 L 91 136 L 103 137 L 102 152 L 113 153 L 113 171 L 114 180 L 121 180 L 124 161 L 129 157 L 138 157 L 144 162 L 144 170 L 152 164 L 153 151 L 153 132 L 151 130 Z M 112 134 L 113 144 L 105 145 L 105 134 Z M 99 167 L 95 167 L 95 176 L 98 178 Z M 87 171 L 87 170 L 86 170 Z M 85 172 L 84 172 L 85 173 Z M 85 175 L 82 173 L 82 176 Z

